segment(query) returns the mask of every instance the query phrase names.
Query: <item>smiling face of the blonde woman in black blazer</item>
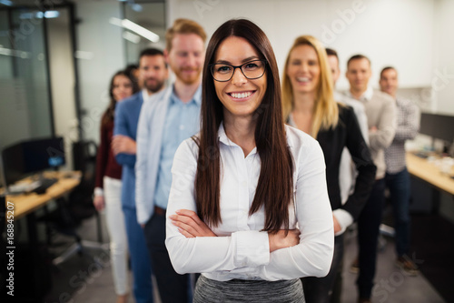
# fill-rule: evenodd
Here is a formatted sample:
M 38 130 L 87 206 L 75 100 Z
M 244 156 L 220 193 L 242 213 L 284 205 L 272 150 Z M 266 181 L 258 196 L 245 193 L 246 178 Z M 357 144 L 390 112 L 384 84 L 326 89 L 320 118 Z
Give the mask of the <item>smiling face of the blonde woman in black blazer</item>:
M 320 63 L 311 45 L 293 48 L 287 66 L 287 76 L 295 93 L 315 93 L 320 82 Z

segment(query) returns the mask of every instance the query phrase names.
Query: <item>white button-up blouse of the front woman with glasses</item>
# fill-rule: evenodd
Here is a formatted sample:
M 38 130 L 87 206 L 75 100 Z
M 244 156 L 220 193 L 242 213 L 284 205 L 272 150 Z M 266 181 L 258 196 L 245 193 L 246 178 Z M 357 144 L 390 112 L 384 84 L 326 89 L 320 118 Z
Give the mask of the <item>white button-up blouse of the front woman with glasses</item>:
M 321 147 L 311 136 L 285 126 L 294 159 L 295 203 L 289 207 L 290 228 L 301 231 L 300 244 L 270 253 L 264 227 L 264 209 L 249 216 L 260 175 L 256 148 L 244 157 L 242 148 L 218 131 L 221 152 L 222 223 L 212 231 L 218 237 L 186 238 L 168 217 L 176 210 L 196 211 L 194 179 L 198 146 L 187 139 L 173 158 L 173 183 L 167 207 L 166 240 L 176 272 L 202 273 L 206 278 L 280 280 L 324 277 L 331 267 L 334 234 L 332 212 Z

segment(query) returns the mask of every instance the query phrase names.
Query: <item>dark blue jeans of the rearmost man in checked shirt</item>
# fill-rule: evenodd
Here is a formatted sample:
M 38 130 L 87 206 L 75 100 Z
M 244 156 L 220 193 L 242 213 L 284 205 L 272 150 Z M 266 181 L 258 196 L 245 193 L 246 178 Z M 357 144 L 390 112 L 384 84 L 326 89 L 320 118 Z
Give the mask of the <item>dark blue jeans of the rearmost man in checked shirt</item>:
M 398 256 L 410 250 L 410 175 L 407 168 L 397 174 L 386 174 L 386 186 L 390 189 L 390 202 L 394 213 L 396 251 Z

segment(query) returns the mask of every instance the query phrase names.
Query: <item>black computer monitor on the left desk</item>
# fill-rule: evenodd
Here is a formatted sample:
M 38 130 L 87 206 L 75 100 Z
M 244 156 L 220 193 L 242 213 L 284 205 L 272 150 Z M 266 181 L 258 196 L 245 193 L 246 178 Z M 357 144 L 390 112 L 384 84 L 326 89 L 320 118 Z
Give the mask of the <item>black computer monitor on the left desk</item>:
M 63 137 L 34 139 L 8 146 L 2 151 L 5 186 L 45 169 L 64 166 Z

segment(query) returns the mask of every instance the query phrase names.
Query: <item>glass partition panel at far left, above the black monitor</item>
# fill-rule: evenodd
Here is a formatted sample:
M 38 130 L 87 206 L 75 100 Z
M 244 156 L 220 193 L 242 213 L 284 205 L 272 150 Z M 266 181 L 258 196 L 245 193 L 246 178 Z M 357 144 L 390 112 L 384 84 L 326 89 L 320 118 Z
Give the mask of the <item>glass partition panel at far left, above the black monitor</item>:
M 38 13 L 0 10 L 0 149 L 53 134 L 45 19 Z

